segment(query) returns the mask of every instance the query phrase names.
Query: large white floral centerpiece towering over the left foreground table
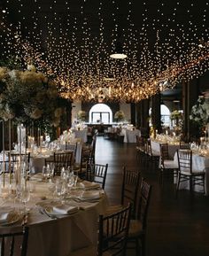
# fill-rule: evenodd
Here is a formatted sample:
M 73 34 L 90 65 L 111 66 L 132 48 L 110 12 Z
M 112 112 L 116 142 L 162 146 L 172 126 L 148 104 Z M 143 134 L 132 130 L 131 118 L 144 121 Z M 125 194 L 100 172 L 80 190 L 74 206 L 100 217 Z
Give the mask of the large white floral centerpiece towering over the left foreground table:
M 63 108 L 53 81 L 35 66 L 26 71 L 0 67 L 0 118 L 28 125 L 58 127 Z

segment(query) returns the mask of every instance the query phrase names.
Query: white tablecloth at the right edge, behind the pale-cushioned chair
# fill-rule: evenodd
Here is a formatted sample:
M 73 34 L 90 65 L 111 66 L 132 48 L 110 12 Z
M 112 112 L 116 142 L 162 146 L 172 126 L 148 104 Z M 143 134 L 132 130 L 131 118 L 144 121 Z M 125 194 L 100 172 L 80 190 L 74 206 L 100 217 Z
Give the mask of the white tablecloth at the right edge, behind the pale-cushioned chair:
M 174 162 L 178 164 L 177 152 L 174 155 Z M 209 157 L 199 156 L 195 153 L 192 154 L 192 169 L 197 171 L 205 170 L 205 194 L 209 194 Z M 176 181 L 174 181 L 176 182 Z M 189 182 L 182 182 L 180 184 L 180 190 L 190 190 Z M 196 185 L 194 188 L 195 191 L 203 191 L 202 186 Z

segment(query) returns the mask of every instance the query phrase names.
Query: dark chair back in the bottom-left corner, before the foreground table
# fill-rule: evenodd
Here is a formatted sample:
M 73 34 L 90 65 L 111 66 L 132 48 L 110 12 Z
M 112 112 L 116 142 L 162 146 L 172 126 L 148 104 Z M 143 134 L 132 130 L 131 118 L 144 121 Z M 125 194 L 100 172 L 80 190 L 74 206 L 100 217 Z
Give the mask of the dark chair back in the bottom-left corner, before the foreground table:
M 28 228 L 19 232 L 0 234 L 1 256 L 27 255 Z

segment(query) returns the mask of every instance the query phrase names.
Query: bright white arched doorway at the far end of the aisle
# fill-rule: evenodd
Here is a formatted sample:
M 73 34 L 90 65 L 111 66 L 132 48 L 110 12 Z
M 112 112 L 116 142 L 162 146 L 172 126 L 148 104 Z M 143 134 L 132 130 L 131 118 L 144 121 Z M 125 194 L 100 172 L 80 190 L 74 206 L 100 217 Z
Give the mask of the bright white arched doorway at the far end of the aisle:
M 96 104 L 89 110 L 90 123 L 112 123 L 112 110 L 108 105 Z

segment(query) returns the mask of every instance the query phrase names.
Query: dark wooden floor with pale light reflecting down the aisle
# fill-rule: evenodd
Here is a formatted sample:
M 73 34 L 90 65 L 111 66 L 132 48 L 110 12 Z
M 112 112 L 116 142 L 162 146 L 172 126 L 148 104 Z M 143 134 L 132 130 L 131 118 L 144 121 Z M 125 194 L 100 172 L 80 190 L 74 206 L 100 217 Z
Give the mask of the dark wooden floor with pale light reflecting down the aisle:
M 181 190 L 174 196 L 174 184 L 159 186 L 157 170 L 148 172 L 135 158 L 135 144 L 120 144 L 97 137 L 97 163 L 109 164 L 105 190 L 111 204 L 119 203 L 122 166 L 139 169 L 153 185 L 148 217 L 146 256 L 208 256 L 209 197 Z M 128 252 L 128 256 L 135 255 Z

